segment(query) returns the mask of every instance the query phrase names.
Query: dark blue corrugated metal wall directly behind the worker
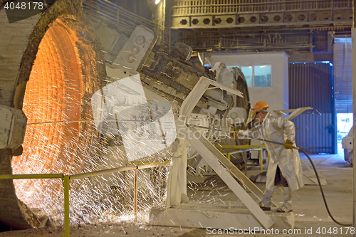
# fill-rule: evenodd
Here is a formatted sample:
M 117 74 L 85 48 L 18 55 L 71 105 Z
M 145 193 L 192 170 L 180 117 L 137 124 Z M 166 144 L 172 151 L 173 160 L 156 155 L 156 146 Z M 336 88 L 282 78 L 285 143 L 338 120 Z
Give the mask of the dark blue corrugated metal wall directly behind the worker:
M 313 107 L 295 117 L 295 142 L 306 152 L 336 153 L 330 63 L 289 63 L 289 108 Z

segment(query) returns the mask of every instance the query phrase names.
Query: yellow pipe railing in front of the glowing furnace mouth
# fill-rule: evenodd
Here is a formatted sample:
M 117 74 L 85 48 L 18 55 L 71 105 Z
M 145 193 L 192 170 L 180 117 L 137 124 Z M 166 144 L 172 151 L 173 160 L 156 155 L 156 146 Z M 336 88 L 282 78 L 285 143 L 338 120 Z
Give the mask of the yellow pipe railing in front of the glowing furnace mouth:
M 103 169 L 95 172 L 88 172 L 83 174 L 0 174 L 0 179 L 62 179 L 64 187 L 64 235 L 62 237 L 69 237 L 69 182 L 70 179 L 83 179 L 93 177 L 100 174 L 110 174 L 114 172 L 123 172 L 127 170 L 134 170 L 134 213 L 137 216 L 137 176 L 139 169 L 148 169 L 154 167 L 163 167 L 169 162 L 135 162 L 133 165 L 127 167 L 118 167 L 113 169 Z

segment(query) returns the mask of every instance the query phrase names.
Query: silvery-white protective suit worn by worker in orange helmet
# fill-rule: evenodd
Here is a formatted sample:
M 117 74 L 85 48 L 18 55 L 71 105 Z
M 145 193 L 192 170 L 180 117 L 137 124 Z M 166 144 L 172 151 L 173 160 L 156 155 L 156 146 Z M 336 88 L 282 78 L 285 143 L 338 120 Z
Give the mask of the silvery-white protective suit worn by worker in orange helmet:
M 262 124 L 253 127 L 251 130 L 240 131 L 239 135 L 248 135 L 259 139 L 266 139 L 273 142 L 285 143 L 286 139 L 295 145 L 294 123 L 284 117 L 271 115 L 269 112 L 264 117 Z M 261 206 L 271 206 L 271 199 L 276 177 L 277 167 L 281 169 L 281 174 L 287 180 L 289 188 L 284 191 L 283 206 L 290 206 L 291 193 L 304 186 L 303 170 L 300 164 L 299 152 L 297 149 L 286 149 L 283 145 L 264 142 L 270 155 L 266 174 L 266 190 L 261 201 Z

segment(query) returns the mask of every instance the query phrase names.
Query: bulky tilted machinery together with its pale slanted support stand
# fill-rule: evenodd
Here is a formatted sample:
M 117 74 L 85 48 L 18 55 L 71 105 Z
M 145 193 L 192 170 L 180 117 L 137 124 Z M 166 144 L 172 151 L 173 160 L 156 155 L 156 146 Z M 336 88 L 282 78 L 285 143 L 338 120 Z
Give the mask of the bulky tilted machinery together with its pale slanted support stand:
M 93 24 L 99 38 L 112 35 L 112 30 L 105 24 Z M 127 162 L 142 161 L 172 144 L 167 211 L 162 213 L 152 209 L 151 223 L 167 225 L 172 216 L 179 216 L 177 208 L 190 205 L 187 197 L 190 151 L 190 156 L 202 157 L 245 205 L 242 209 L 234 209 L 233 214 L 215 210 L 214 218 L 205 221 L 199 218 L 202 226 L 226 228 L 234 224 L 239 228 L 270 228 L 275 222 L 274 217 L 264 213 L 246 189 L 259 200 L 262 191 L 213 144 L 248 142 L 211 132 L 214 129 L 229 130 L 231 125 L 239 129 L 247 127 L 248 89 L 241 70 L 226 68 L 224 63 L 217 63 L 209 70 L 193 63 L 189 60 L 192 48 L 182 43 L 177 43 L 171 51 L 156 46 L 155 33 L 145 26 L 137 26 L 127 41 L 122 36 L 117 38 L 116 43 L 102 41 L 110 83 L 93 95 L 93 117 L 101 134 L 117 136 L 122 141 Z M 117 51 L 120 53 L 115 56 Z M 211 130 L 198 131 L 191 125 Z M 234 223 L 217 221 L 220 214 L 231 215 L 229 219 Z M 288 218 L 284 223 L 293 228 L 292 217 L 288 214 L 283 218 Z M 192 227 L 192 224 L 181 217 L 179 225 Z

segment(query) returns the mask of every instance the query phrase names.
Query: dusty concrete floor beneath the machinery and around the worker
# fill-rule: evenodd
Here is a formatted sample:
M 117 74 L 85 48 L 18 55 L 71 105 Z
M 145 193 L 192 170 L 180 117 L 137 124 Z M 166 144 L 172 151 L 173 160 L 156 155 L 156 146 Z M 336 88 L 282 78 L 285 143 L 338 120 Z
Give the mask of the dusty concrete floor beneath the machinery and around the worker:
M 335 154 L 314 154 L 310 155 L 315 163 L 315 167 L 321 176 L 325 177 L 328 184 L 323 186 L 325 197 L 328 201 L 330 211 L 333 216 L 342 223 L 352 223 L 352 167 L 345 164 L 342 155 Z M 304 156 L 301 158 L 307 162 Z M 260 172 L 259 167 L 248 167 L 247 175 L 256 175 Z M 264 165 L 266 169 L 266 165 Z M 304 169 L 305 170 L 305 167 Z M 307 173 L 307 172 L 305 172 Z M 264 184 L 257 184 L 260 189 L 264 189 Z M 227 201 L 238 203 L 236 196 L 224 184 L 221 189 L 216 191 L 219 196 L 217 203 L 223 204 Z M 207 191 L 188 189 L 188 196 L 191 201 L 204 202 Z M 214 196 L 215 194 L 211 194 Z M 283 193 L 277 189 L 274 194 L 275 203 L 281 205 Z M 347 227 L 339 226 L 334 223 L 325 209 L 320 189 L 318 186 L 304 186 L 303 189 L 293 194 L 293 214 L 295 216 L 295 229 L 300 232 L 288 234 L 288 236 L 352 236 L 351 230 Z M 231 226 L 234 227 L 234 226 Z M 320 233 L 318 233 L 320 228 Z M 328 231 L 332 231 L 332 234 Z M 326 232 L 326 234 L 323 234 Z M 346 231 L 348 233 L 346 234 Z M 26 231 L 8 231 L 0 233 L 0 237 L 46 237 L 61 236 L 63 228 L 46 227 Z M 202 228 L 180 228 L 167 226 L 148 226 L 145 223 L 115 223 L 87 226 L 72 226 L 70 236 L 74 237 L 116 237 L 116 236 L 212 236 L 211 232 Z M 280 234 L 283 235 L 283 234 Z M 225 235 L 216 234 L 214 236 L 233 236 L 231 233 Z M 276 234 L 235 234 L 235 236 L 277 236 Z

